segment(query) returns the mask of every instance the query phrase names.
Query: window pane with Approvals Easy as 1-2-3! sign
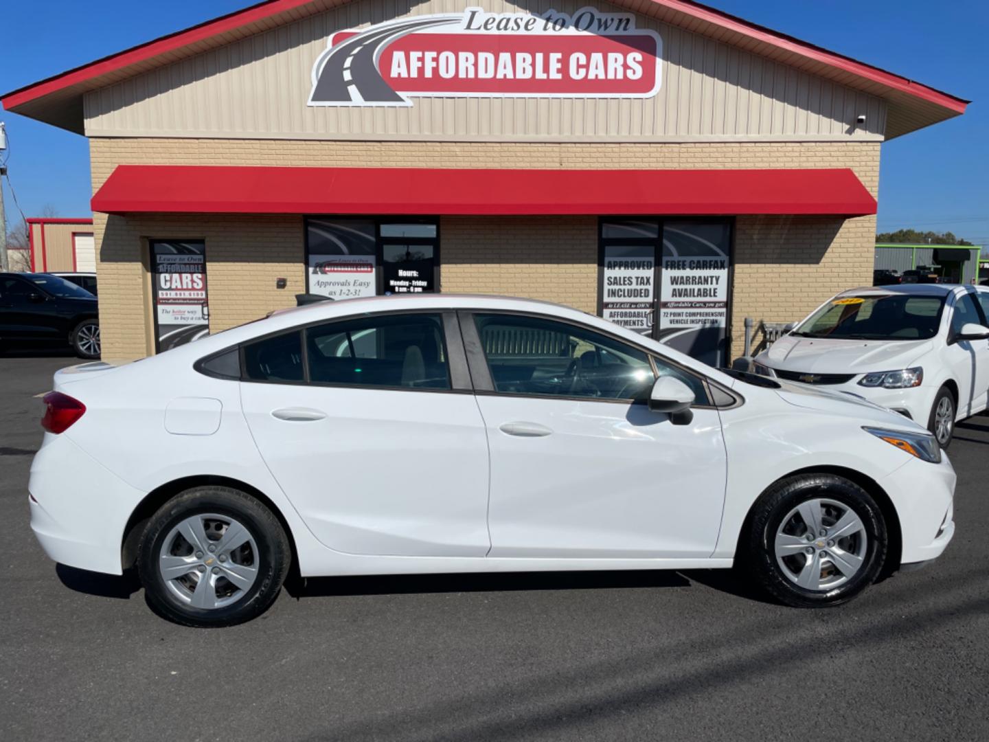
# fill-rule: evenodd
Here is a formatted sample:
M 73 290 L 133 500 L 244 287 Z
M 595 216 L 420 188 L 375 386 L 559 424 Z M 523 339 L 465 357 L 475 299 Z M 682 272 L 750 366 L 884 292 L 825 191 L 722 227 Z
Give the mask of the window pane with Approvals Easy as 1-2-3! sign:
M 311 294 L 330 299 L 375 295 L 374 222 L 311 219 L 307 229 Z

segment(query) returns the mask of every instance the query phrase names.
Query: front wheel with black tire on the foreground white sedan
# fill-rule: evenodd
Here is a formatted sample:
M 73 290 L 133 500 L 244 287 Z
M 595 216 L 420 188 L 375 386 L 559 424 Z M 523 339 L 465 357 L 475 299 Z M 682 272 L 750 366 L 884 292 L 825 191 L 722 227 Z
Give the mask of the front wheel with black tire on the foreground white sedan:
M 886 547 L 875 501 L 831 474 L 797 475 L 770 487 L 739 543 L 755 582 L 794 607 L 851 601 L 879 574 Z

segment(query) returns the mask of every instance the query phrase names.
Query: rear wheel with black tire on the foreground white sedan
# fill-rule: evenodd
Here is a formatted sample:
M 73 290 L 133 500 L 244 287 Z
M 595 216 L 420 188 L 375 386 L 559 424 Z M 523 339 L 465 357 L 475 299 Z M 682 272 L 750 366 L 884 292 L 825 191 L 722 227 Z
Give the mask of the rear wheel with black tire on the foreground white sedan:
M 187 626 L 229 626 L 278 597 L 291 547 L 256 498 L 197 487 L 163 505 L 145 527 L 137 569 L 148 603 Z

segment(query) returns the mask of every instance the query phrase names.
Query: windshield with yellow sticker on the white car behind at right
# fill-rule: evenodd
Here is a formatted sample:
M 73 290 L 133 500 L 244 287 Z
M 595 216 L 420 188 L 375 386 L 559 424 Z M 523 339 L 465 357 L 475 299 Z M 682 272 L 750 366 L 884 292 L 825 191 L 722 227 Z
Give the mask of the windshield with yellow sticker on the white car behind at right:
M 944 296 L 841 297 L 833 299 L 790 334 L 849 340 L 924 340 L 938 334 Z

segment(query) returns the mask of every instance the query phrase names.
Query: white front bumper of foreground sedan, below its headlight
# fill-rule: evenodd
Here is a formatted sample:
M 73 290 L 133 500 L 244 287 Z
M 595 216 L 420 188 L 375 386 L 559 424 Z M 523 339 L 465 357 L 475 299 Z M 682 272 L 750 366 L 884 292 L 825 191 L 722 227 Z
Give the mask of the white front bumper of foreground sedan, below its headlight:
M 954 484 L 944 453 L 940 464 L 911 459 L 880 480 L 900 519 L 901 564 L 936 559 L 947 548 L 954 535 Z

